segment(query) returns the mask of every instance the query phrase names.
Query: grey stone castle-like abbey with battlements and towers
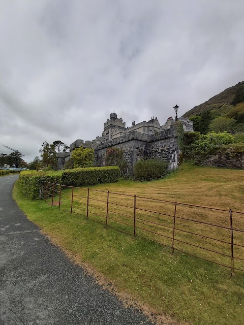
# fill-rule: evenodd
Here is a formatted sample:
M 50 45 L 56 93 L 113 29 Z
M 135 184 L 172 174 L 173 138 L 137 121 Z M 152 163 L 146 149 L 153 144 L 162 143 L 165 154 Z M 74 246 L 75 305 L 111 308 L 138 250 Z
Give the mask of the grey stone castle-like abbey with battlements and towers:
M 188 118 L 180 117 L 178 121 L 183 124 L 184 130 L 193 131 L 193 122 Z M 70 152 L 59 152 L 57 157 L 58 169 L 64 167 L 70 159 L 72 150 L 78 147 L 93 148 L 97 166 L 105 165 L 107 148 L 122 148 L 128 165 L 128 175 L 133 175 L 133 166 L 141 158 L 158 158 L 168 161 L 168 169 L 178 167 L 180 153 L 176 141 L 175 120 L 169 117 L 165 124 L 160 125 L 157 117 L 138 124 L 132 121 L 132 126 L 126 127 L 122 118 L 117 118 L 116 113 L 110 114 L 110 119 L 104 123 L 101 137 L 93 141 L 76 140 L 70 145 Z

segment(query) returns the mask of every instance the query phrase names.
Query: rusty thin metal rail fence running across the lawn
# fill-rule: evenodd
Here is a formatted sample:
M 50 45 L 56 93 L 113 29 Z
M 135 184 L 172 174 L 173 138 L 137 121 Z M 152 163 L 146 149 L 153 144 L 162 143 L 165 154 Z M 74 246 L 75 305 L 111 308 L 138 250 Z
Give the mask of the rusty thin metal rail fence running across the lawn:
M 153 193 L 157 196 L 157 193 Z M 51 182 L 42 198 L 119 232 L 244 272 L 244 212 Z

